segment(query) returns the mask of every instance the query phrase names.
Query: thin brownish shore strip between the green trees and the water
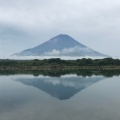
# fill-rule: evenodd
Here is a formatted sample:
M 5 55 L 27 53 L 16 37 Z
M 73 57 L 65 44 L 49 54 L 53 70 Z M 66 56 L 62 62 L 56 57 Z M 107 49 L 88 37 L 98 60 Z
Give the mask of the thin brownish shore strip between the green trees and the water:
M 0 71 L 5 70 L 120 70 L 120 66 L 0 66 Z

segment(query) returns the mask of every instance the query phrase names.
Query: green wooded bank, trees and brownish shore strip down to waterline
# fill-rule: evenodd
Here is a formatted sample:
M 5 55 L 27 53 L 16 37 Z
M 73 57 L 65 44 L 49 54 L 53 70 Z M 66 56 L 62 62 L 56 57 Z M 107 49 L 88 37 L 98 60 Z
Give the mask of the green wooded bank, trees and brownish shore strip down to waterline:
M 104 59 L 77 59 L 61 60 L 51 58 L 44 60 L 0 60 L 0 71 L 4 70 L 120 70 L 120 60 L 113 58 Z

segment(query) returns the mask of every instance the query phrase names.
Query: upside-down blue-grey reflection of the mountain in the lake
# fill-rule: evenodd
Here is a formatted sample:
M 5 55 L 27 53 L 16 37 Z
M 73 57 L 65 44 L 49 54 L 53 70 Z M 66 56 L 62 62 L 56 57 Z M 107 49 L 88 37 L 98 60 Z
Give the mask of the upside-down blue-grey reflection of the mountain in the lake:
M 103 76 L 82 77 L 74 74 L 61 77 L 40 75 L 38 77 L 17 78 L 16 81 L 38 88 L 59 100 L 66 100 L 104 78 Z

